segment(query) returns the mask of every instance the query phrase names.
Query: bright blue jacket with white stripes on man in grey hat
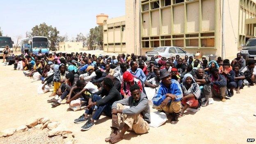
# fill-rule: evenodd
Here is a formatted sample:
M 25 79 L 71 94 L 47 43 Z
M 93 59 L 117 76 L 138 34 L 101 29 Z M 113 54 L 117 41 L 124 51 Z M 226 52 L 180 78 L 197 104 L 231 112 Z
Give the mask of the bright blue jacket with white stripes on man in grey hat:
M 183 97 L 183 92 L 181 89 L 181 85 L 178 83 L 177 80 L 171 79 L 171 85 L 170 87 L 165 87 L 165 85 L 161 82 L 158 90 L 155 93 L 155 96 L 153 97 L 153 104 L 158 106 L 162 103 L 162 101 L 165 100 L 166 94 L 174 94 L 176 96 L 174 101 L 181 101 L 181 98 Z M 171 100 L 169 101 L 171 103 Z

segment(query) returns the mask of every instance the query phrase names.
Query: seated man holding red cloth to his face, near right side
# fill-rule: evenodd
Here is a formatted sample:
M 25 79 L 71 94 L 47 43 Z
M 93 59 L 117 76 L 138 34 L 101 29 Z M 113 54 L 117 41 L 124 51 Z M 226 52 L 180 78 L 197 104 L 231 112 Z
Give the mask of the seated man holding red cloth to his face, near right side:
M 228 91 L 229 97 L 233 96 L 233 89 L 236 88 L 235 71 L 232 70 L 232 67 L 229 63 L 223 63 L 222 68 L 220 67 L 219 71 L 227 80 L 227 88 L 230 89 L 230 91 Z

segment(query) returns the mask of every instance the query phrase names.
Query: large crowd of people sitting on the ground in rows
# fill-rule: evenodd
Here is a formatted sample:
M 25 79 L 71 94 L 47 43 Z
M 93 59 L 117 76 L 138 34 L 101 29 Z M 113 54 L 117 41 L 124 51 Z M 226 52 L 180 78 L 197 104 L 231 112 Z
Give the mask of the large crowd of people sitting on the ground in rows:
M 42 89 L 53 83 L 54 98 L 47 102 L 57 107 L 76 99 L 85 102 L 85 112 L 74 123 L 86 122 L 89 130 L 102 113 L 112 118 L 113 133 L 106 142 L 118 142 L 127 130 L 148 132 L 150 107 L 171 114 L 171 124 L 187 109 L 209 105 L 210 98 L 222 102 L 240 93 L 244 85 L 254 85 L 254 60 L 247 65 L 241 54 L 231 62 L 218 57 L 208 62 L 205 56 L 194 59 L 119 54 L 46 53 L 14 56 L 14 70 L 24 75 L 41 75 Z M 151 105 L 151 106 L 150 106 Z M 94 112 L 94 109 L 96 110 Z M 94 113 L 93 113 L 94 112 Z M 121 125 L 121 123 L 124 123 Z

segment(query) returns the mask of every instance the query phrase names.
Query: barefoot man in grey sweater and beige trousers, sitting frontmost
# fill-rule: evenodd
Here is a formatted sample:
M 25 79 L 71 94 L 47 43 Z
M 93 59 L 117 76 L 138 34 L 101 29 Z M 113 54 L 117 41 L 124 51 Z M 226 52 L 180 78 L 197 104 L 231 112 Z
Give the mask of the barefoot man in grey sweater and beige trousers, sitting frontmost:
M 137 134 L 144 134 L 149 131 L 150 108 L 146 94 L 140 92 L 138 85 L 130 87 L 132 96 L 115 101 L 112 105 L 112 128 L 114 132 L 106 138 L 106 142 L 116 143 L 123 139 L 127 130 Z M 123 107 L 129 106 L 129 108 Z M 123 126 L 120 126 L 124 123 Z M 119 132 L 121 130 L 121 132 Z

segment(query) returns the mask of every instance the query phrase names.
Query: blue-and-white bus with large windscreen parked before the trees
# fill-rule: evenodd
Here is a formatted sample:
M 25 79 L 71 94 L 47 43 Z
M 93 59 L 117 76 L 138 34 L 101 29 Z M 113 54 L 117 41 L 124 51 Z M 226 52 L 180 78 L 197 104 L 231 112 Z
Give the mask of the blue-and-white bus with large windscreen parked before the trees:
M 21 53 L 45 54 L 49 53 L 50 41 L 47 37 L 30 37 L 21 41 Z

